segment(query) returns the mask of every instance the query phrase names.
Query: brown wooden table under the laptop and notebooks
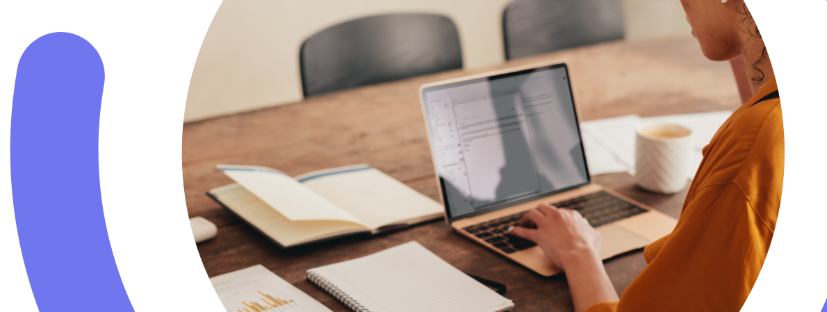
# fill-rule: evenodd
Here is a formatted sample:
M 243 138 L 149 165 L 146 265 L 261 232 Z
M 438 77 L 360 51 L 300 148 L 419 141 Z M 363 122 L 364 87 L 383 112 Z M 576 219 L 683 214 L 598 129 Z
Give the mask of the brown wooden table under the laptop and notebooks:
M 648 41 L 614 41 L 548 55 L 537 55 L 480 70 L 439 74 L 349 89 L 306 98 L 299 103 L 184 124 L 181 175 L 189 217 L 218 225 L 213 240 L 198 244 L 208 276 L 261 263 L 333 311 L 347 311 L 332 296 L 306 280 L 316 266 L 366 256 L 415 240 L 461 271 L 490 278 L 508 287 L 505 295 L 520 311 L 571 311 L 564 275 L 534 274 L 462 238 L 443 222 L 418 225 L 377 238 L 343 238 L 281 250 L 232 216 L 205 194 L 232 183 L 217 164 L 268 166 L 288 175 L 367 163 L 437 198 L 437 183 L 418 87 L 442 79 L 564 58 L 578 95 L 583 120 L 629 113 L 657 116 L 735 109 L 738 88 L 727 62 L 706 60 L 690 35 Z M 686 190 L 674 195 L 649 194 L 626 173 L 593 180 L 678 218 Z M 643 251 L 605 262 L 618 294 L 646 266 Z

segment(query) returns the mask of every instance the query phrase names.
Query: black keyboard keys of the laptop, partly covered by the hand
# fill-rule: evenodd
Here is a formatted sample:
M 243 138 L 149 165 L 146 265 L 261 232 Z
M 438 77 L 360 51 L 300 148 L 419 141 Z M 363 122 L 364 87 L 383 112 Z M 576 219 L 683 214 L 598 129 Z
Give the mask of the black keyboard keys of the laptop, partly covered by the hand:
M 557 208 L 577 210 L 589 221 L 589 224 L 593 228 L 646 212 L 646 209 L 640 208 L 624 199 L 619 199 L 617 196 L 602 190 L 574 199 L 563 200 L 553 205 Z M 512 214 L 485 223 L 472 225 L 463 228 L 463 230 L 474 234 L 477 238 L 485 240 L 485 242 L 494 245 L 494 247 L 499 248 L 505 253 L 518 252 L 529 247 L 537 246 L 534 242 L 506 234 L 510 226 L 519 224 L 520 219 L 523 218 L 523 214 L 525 214 L 525 212 Z

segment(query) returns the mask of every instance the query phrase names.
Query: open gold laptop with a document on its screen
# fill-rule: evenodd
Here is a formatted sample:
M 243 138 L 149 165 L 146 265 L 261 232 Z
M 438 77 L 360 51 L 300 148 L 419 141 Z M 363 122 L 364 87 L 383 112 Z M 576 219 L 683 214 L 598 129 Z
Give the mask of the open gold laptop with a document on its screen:
M 537 272 L 562 272 L 509 235 L 538 204 L 579 211 L 608 259 L 671 233 L 677 220 L 591 182 L 565 61 L 424 84 L 419 89 L 445 220 Z

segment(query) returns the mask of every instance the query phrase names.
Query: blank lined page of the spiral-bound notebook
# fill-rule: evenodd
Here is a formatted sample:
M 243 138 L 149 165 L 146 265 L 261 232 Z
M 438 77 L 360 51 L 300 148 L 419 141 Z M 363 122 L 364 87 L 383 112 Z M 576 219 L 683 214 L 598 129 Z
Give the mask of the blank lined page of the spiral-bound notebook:
M 371 312 L 499 312 L 511 300 L 457 270 L 418 242 L 308 270 Z

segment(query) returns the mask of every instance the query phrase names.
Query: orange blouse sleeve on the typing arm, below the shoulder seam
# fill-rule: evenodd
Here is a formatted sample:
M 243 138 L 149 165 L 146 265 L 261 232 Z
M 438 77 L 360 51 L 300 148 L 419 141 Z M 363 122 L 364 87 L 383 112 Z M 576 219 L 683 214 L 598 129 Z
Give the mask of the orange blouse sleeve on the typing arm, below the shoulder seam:
M 647 258 L 648 266 L 624 290 L 616 311 L 741 310 L 770 242 L 772 230 L 738 185 L 707 186 L 687 204 L 672 233 L 657 241 L 659 252 Z M 592 308 L 613 306 L 602 302 Z

